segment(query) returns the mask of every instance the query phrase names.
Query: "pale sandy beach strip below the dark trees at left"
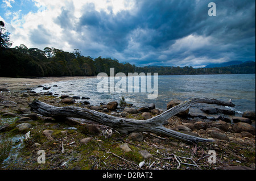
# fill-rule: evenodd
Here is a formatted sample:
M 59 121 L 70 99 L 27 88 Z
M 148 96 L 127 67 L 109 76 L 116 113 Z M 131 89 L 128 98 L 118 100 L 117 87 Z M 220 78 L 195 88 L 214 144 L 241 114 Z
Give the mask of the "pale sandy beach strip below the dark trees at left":
M 10 78 L 0 77 L 0 86 L 10 90 L 21 90 L 32 88 L 45 83 L 70 81 L 94 77 L 43 77 L 43 78 Z

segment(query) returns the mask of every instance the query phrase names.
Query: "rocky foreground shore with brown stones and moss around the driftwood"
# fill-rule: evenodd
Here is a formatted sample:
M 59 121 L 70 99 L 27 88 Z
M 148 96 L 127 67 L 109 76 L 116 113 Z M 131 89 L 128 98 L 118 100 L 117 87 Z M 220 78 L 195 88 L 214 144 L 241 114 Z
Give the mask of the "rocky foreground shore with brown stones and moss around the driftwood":
M 136 107 L 119 102 L 90 105 L 90 98 L 36 93 L 0 82 L 1 169 L 255 169 L 255 111 L 237 115 L 221 106 L 200 104 L 168 120 L 167 128 L 214 142 L 187 144 L 175 138 L 146 132 L 120 134 L 89 120 L 55 120 L 30 111 L 34 99 L 53 106 L 77 106 L 113 116 L 150 119 L 165 110 L 154 104 Z M 49 87 L 42 86 L 42 89 Z M 181 103 L 170 100 L 167 110 Z M 39 151 L 46 153 L 40 163 Z M 216 162 L 210 162 L 212 151 Z

